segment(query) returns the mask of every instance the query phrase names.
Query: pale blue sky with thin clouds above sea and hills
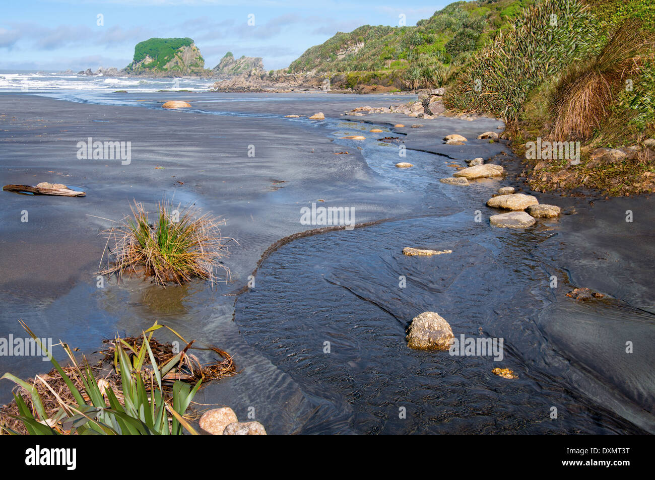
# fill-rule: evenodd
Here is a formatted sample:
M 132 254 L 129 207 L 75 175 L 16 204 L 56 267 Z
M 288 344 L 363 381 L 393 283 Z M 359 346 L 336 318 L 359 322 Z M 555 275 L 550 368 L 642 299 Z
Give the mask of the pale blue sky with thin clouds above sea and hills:
M 397 26 L 400 14 L 415 25 L 452 1 L 3 0 L 0 69 L 120 68 L 151 37 L 193 38 L 206 68 L 229 50 L 278 69 L 337 31 Z

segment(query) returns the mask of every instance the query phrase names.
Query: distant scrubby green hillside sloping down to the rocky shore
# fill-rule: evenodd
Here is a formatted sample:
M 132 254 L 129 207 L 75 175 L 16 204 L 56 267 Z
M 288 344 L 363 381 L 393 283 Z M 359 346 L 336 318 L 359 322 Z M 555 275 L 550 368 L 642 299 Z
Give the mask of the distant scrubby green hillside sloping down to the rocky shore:
M 365 81 L 356 72 L 378 72 L 375 78 L 400 77 L 405 88 L 441 86 L 453 67 L 508 28 L 534 0 L 458 1 L 438 10 L 417 26 L 365 25 L 337 33 L 312 46 L 291 63 L 288 73 L 348 73 L 350 83 Z

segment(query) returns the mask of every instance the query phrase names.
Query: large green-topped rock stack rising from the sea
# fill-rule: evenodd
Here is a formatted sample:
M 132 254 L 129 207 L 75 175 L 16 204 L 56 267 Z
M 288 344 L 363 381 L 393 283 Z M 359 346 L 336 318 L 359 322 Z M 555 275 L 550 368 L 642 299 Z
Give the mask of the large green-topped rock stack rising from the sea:
M 134 47 L 128 73 L 206 74 L 204 58 L 190 38 L 152 38 Z

